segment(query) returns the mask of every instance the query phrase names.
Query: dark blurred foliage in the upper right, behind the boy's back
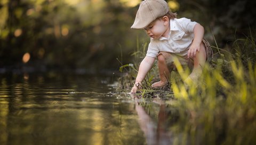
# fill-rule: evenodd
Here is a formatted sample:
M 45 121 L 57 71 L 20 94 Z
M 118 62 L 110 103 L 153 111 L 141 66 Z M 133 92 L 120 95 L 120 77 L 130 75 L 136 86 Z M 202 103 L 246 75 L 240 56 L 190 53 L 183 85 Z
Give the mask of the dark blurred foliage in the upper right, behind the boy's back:
M 255 1 L 249 0 L 180 0 L 179 17 L 190 18 L 201 23 L 205 28 L 205 38 L 214 44 L 216 41 L 220 47 L 232 47 L 235 35 L 249 36 L 249 27 L 255 29 L 256 21 L 253 10 Z M 236 33 L 236 34 L 235 34 Z

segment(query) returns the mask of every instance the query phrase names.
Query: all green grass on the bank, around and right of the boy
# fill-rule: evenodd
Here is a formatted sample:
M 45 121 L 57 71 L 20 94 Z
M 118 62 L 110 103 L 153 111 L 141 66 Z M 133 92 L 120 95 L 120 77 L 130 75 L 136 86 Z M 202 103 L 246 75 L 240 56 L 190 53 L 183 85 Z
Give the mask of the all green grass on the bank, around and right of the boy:
M 206 64 L 197 84 L 189 88 L 183 80 L 189 72 L 175 61 L 177 72 L 172 72 L 169 90 L 152 90 L 157 77 L 157 66 L 148 73 L 140 94 L 143 98 L 161 96 L 170 98 L 165 103 L 177 108 L 178 122 L 170 127 L 174 144 L 254 144 L 256 142 L 256 45 L 251 29 L 249 36 L 235 38 L 231 51 L 212 46 L 215 53 L 211 64 Z M 133 53 L 137 62 L 145 56 Z M 137 47 L 138 48 L 138 47 Z M 139 64 L 139 63 L 134 63 Z M 122 91 L 129 92 L 137 74 L 138 65 L 124 65 Z M 175 101 L 173 101 L 175 100 Z

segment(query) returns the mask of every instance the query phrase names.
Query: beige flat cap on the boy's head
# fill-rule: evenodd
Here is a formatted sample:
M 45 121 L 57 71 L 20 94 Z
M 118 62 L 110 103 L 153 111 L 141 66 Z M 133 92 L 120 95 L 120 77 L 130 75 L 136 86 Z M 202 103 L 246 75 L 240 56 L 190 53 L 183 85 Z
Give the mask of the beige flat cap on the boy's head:
M 169 6 L 164 0 L 142 1 L 131 28 L 146 28 L 156 18 L 165 15 L 169 10 Z

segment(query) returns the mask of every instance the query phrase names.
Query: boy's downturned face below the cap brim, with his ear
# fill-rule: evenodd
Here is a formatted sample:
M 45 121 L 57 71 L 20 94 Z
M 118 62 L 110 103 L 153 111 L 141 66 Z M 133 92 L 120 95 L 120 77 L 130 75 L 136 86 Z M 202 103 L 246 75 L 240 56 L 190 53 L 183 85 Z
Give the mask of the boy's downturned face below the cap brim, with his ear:
M 169 19 L 159 18 L 151 22 L 146 28 L 146 33 L 151 38 L 160 38 L 161 36 L 168 38 L 170 25 Z

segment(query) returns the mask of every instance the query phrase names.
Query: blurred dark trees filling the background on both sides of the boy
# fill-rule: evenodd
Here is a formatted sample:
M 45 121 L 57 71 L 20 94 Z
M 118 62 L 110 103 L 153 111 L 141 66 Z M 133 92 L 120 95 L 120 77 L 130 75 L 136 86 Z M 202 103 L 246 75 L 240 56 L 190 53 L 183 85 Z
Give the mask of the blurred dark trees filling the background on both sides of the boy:
M 138 0 L 1 0 L 0 70 L 116 69 L 149 42 L 130 29 Z M 235 36 L 255 33 L 255 1 L 170 0 L 178 18 L 205 27 L 205 37 L 232 51 Z M 251 31 L 249 31 L 249 28 Z

